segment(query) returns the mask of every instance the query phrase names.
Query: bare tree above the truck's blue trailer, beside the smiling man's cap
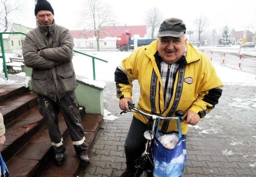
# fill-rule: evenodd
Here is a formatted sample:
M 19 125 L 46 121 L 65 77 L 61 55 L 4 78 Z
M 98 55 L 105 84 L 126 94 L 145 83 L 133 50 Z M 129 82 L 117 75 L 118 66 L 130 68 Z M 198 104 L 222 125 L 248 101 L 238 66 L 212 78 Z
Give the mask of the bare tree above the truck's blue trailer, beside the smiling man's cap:
M 146 14 L 146 24 L 151 29 L 151 39 L 154 39 L 154 33 L 156 27 L 162 23 L 163 16 L 160 10 L 156 7 L 149 9 Z

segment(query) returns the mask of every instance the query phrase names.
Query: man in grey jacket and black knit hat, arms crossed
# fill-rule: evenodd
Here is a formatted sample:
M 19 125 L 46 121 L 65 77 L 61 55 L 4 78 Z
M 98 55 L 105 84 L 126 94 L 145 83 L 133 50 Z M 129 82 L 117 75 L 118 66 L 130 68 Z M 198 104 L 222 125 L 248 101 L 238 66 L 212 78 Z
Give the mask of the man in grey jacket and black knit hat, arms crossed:
M 64 163 L 65 147 L 58 125 L 61 111 L 80 162 L 89 164 L 79 105 L 76 100 L 76 78 L 72 64 L 73 38 L 68 29 L 58 26 L 54 10 L 47 0 L 35 7 L 38 27 L 26 34 L 22 45 L 24 63 L 32 70 L 32 91 L 38 95 L 38 108 L 44 117 L 54 150 L 56 165 Z

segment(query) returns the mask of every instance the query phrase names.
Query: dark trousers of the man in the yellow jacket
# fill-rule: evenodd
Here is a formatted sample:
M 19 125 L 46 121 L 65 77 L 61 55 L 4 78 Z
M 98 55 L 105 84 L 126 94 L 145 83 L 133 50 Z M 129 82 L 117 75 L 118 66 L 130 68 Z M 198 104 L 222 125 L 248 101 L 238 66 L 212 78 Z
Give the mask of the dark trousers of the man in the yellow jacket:
M 146 130 L 148 130 L 148 125 L 133 116 L 124 144 L 126 172 L 129 175 L 135 173 L 135 160 L 138 159 L 146 149 L 145 145 L 147 140 L 144 137 L 144 131 Z

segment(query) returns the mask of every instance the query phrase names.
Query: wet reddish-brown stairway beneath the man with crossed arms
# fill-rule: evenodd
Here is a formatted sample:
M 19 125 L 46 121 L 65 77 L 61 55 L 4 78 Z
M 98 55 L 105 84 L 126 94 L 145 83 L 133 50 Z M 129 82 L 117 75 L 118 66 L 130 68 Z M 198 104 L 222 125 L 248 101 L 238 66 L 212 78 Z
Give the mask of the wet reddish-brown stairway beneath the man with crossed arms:
M 90 151 L 103 116 L 86 114 L 84 110 L 80 107 Z M 62 114 L 59 115 L 59 126 L 66 147 L 65 163 L 56 166 L 52 161 L 48 129 L 38 112 L 35 93 L 22 85 L 0 84 L 0 112 L 6 128 L 6 142 L 1 153 L 11 177 L 76 177 L 81 166 Z

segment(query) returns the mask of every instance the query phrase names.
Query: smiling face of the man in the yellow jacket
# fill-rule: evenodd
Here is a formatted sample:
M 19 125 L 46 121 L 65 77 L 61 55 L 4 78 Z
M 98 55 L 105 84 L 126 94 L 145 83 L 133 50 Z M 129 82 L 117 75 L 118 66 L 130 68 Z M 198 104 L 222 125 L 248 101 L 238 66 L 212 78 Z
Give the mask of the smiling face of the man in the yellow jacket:
M 183 34 L 180 38 L 170 36 L 158 38 L 157 50 L 164 62 L 173 64 L 180 59 L 186 49 L 185 36 Z

